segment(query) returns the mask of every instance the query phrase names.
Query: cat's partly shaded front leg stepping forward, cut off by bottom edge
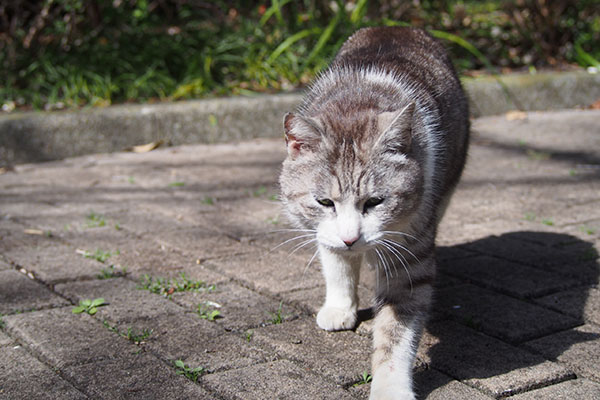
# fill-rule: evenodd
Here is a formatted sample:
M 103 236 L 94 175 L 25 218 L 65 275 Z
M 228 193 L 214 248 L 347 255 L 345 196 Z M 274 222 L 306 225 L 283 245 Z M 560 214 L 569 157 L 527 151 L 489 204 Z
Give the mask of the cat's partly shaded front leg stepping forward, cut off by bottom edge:
M 411 281 L 394 279 L 389 289 L 378 293 L 380 308 L 373 324 L 371 400 L 415 398 L 413 362 L 431 302 L 435 266 L 431 259 L 409 269 Z

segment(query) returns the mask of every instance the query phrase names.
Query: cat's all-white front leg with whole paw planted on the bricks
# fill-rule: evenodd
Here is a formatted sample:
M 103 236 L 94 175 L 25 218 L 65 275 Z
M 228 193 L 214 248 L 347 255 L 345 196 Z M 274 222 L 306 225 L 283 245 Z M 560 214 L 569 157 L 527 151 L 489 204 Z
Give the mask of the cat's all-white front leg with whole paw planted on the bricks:
M 325 277 L 325 304 L 317 314 L 317 325 L 328 331 L 352 329 L 356 325 L 358 285 L 362 257 L 347 258 L 321 246 Z

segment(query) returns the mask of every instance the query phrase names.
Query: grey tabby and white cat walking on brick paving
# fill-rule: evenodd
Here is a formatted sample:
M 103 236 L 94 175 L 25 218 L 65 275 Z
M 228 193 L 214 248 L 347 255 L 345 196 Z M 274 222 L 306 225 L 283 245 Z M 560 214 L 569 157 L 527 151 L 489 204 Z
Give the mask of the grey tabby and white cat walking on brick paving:
M 359 268 L 376 267 L 371 399 L 413 399 L 435 236 L 465 163 L 468 107 L 443 47 L 412 28 L 366 28 L 284 118 L 291 221 L 314 234 L 325 330 L 357 322 Z

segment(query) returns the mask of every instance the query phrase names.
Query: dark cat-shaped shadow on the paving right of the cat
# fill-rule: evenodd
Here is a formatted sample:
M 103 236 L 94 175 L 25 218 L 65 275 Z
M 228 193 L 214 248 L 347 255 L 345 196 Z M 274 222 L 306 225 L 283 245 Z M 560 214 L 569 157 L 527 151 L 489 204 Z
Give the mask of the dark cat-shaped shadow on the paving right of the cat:
M 598 251 L 589 242 L 511 232 L 440 247 L 437 258 L 436 299 L 422 344 L 426 369 L 415 374 L 421 399 L 454 379 L 501 395 L 482 381 L 506 382 L 600 336 L 573 330 L 589 322 L 588 292 L 598 284 Z M 505 386 L 511 389 L 503 383 L 498 390 Z

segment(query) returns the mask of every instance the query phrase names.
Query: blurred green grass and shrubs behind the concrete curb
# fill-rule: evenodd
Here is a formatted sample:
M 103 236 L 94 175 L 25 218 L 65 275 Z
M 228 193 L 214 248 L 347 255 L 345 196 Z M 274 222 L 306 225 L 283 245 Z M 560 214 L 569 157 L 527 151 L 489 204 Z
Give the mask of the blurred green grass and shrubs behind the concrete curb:
M 428 29 L 463 74 L 600 67 L 598 0 L 10 0 L 0 104 L 61 109 L 301 87 L 356 29 Z

